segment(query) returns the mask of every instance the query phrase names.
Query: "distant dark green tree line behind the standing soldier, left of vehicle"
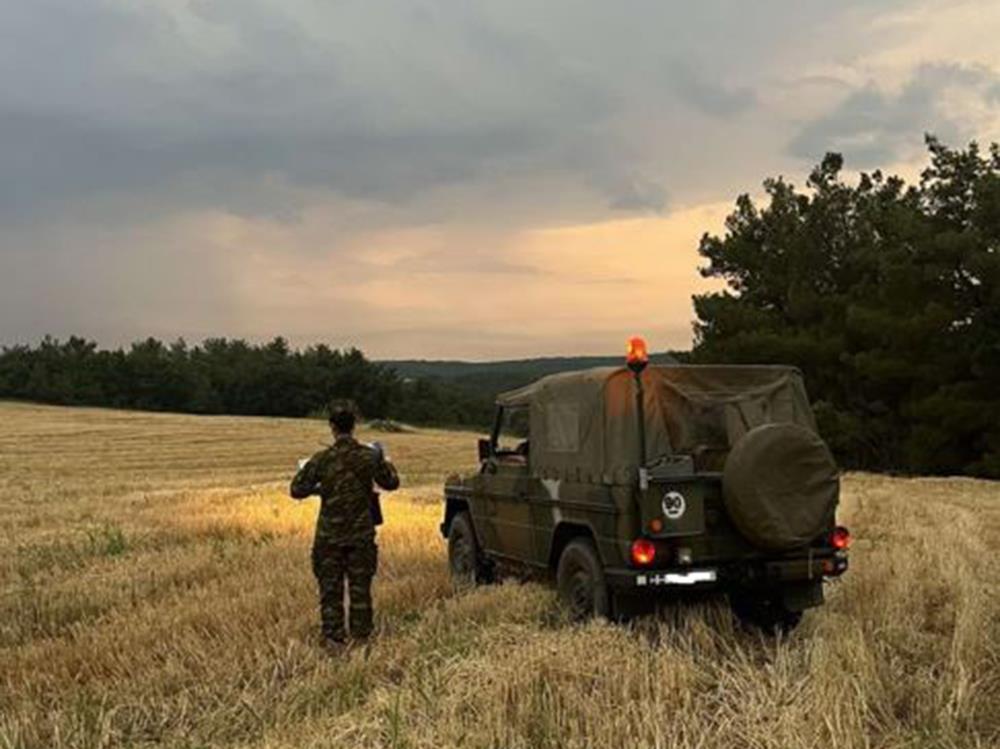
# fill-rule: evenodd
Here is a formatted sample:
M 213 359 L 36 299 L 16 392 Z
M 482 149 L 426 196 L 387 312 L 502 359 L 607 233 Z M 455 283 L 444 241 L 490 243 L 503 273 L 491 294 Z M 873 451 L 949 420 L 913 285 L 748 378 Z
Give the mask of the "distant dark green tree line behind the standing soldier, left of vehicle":
M 364 418 L 444 426 L 486 424 L 492 414 L 489 399 L 403 378 L 357 349 L 296 350 L 280 337 L 196 346 L 148 338 L 113 350 L 76 336 L 46 337 L 0 351 L 0 398 L 252 416 L 308 416 L 350 399 Z

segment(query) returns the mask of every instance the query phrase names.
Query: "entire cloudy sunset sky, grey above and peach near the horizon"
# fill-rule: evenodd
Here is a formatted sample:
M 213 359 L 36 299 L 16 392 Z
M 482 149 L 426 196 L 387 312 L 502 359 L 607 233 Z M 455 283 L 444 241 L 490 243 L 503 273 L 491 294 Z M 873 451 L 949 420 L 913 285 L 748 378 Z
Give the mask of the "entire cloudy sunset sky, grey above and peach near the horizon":
M 0 342 L 684 348 L 739 193 L 1000 139 L 998 38 L 954 0 L 0 0 Z

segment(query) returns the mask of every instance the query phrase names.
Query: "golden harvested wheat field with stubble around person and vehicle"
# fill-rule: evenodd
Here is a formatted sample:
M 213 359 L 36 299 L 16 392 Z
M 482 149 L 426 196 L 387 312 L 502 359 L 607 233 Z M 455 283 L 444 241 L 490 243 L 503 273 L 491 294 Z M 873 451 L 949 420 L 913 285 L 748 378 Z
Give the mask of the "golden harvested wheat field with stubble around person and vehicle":
M 0 404 L 0 424 L 0 747 L 1000 744 L 998 484 L 847 476 L 852 569 L 785 640 L 714 605 L 574 626 L 544 586 L 452 593 L 440 484 L 474 436 L 384 435 L 406 489 L 377 637 L 331 658 L 316 504 L 285 495 L 321 422 Z

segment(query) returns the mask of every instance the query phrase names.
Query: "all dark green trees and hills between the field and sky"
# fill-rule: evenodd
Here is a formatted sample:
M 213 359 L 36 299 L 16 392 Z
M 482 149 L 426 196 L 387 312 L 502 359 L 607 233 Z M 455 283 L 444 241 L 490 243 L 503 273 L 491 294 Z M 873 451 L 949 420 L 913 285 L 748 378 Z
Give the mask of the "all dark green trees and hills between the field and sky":
M 828 154 L 805 189 L 740 196 L 694 298 L 695 346 L 657 361 L 798 366 L 844 467 L 1000 478 L 1000 148 L 927 139 L 915 185 L 880 171 L 853 184 Z M 626 331 L 631 333 L 633 331 Z M 305 416 L 332 398 L 367 418 L 483 427 L 495 393 L 553 371 L 617 362 L 372 362 L 357 350 L 154 339 L 128 349 L 46 338 L 0 351 L 0 398 Z

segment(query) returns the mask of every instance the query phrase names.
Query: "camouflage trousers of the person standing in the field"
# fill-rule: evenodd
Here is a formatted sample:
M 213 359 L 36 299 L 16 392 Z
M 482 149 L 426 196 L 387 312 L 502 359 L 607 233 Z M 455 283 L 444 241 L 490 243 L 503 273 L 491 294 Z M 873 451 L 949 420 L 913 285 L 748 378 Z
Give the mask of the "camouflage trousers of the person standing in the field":
M 319 583 L 319 610 L 323 636 L 331 640 L 347 637 L 344 621 L 344 581 L 350 599 L 351 637 L 365 638 L 372 631 L 372 578 L 378 567 L 374 538 L 313 544 L 313 573 Z

